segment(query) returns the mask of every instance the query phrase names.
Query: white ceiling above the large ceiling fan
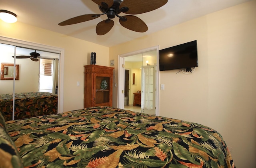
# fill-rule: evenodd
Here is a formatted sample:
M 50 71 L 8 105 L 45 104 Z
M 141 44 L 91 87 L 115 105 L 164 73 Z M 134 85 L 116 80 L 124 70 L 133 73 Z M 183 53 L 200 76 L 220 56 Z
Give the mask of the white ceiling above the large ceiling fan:
M 0 0 L 0 8 L 17 14 L 18 22 L 110 47 L 246 1 L 249 0 L 168 0 L 161 8 L 136 15 L 147 24 L 147 32 L 128 30 L 116 17 L 112 30 L 103 36 L 98 36 L 95 28 L 106 20 L 106 15 L 69 26 L 58 25 L 75 16 L 102 13 L 91 0 Z

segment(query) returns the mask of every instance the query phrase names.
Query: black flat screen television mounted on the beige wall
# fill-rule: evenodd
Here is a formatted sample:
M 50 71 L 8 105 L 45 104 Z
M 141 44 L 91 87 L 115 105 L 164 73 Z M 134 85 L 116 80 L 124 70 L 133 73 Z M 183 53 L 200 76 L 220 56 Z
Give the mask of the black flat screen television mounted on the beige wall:
M 190 69 L 198 66 L 197 41 L 159 50 L 159 69 Z

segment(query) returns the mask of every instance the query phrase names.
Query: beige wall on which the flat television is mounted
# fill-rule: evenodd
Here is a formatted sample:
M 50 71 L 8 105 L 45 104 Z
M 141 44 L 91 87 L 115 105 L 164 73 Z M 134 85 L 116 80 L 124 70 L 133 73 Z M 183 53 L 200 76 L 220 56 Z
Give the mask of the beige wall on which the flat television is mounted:
M 109 54 L 117 61 L 120 54 L 198 40 L 194 73 L 160 72 L 165 90 L 160 90 L 159 115 L 216 129 L 240 168 L 256 165 L 255 9 L 253 0 L 113 46 Z M 117 106 L 117 88 L 113 102 Z

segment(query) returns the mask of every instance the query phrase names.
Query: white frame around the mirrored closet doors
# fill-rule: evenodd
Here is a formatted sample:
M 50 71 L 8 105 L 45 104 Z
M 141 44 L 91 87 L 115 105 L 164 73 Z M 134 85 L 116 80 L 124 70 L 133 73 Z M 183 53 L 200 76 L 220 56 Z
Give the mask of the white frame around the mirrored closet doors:
M 0 43 L 10 44 L 13 46 L 20 46 L 25 48 L 33 48 L 36 50 L 43 50 L 48 52 L 55 52 L 59 54 L 59 79 L 58 79 L 58 113 L 63 112 L 63 94 L 64 94 L 64 48 L 58 48 L 54 46 L 48 46 L 44 44 L 38 44 L 34 42 L 27 42 L 23 40 L 17 40 L 13 38 L 7 38 L 0 36 Z

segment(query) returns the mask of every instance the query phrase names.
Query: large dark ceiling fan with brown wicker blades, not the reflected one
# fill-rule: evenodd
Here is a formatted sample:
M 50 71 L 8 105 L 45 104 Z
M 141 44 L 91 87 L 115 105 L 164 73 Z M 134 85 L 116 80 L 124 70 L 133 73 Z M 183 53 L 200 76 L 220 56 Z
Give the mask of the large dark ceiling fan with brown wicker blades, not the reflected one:
M 148 26 L 140 18 L 133 16 L 133 14 L 142 14 L 150 12 L 161 6 L 164 6 L 168 0 L 92 0 L 98 4 L 99 9 L 102 14 L 84 14 L 70 18 L 63 22 L 60 22 L 58 25 L 66 26 L 71 24 L 77 24 L 81 22 L 86 22 L 89 20 L 96 19 L 101 15 L 106 14 L 108 19 L 99 22 L 96 26 L 96 33 L 98 35 L 104 35 L 111 30 L 114 26 L 114 21 L 111 20 L 116 16 L 119 18 L 120 24 L 132 31 L 135 32 L 146 32 Z M 119 16 L 123 12 L 125 16 Z

